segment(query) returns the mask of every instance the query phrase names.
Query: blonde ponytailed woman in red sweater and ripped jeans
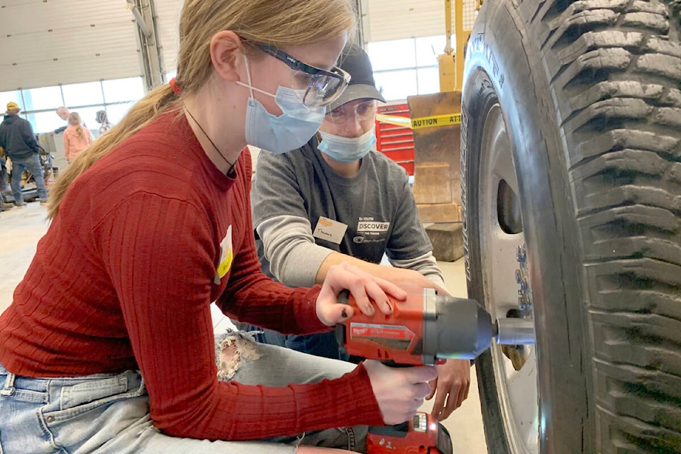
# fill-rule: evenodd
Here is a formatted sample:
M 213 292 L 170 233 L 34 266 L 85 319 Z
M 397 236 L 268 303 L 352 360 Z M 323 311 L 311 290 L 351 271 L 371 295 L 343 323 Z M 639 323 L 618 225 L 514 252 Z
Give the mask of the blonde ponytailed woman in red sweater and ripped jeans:
M 216 367 L 211 301 L 314 333 L 353 315 L 342 289 L 367 314 L 406 297 L 348 264 L 289 289 L 262 275 L 254 248 L 246 144 L 279 153 L 311 138 L 347 84 L 334 65 L 354 26 L 346 0 L 185 2 L 177 79 L 61 175 L 0 316 L 4 452 L 361 451 L 364 425 L 411 418 L 434 367 L 353 368 L 241 333 L 218 348 L 233 363 Z

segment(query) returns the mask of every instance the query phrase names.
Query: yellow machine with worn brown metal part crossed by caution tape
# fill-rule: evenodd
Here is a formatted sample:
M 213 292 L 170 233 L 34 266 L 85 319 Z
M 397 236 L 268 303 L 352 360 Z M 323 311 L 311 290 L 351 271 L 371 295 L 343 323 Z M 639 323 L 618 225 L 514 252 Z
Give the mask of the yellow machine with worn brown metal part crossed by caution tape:
M 408 96 L 409 116 L 377 114 L 377 121 L 411 128 L 414 199 L 438 260 L 463 256 L 461 240 L 460 121 L 464 48 L 482 0 L 445 0 L 444 53 L 438 55 L 440 92 Z M 451 35 L 454 24 L 455 48 Z

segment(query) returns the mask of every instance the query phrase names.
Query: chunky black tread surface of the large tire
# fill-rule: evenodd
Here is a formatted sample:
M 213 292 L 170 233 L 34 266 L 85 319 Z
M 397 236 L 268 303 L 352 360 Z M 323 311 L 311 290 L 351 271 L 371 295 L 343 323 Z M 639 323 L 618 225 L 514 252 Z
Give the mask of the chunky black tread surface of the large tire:
M 681 2 L 567 3 L 539 33 L 585 245 L 597 444 L 678 453 Z

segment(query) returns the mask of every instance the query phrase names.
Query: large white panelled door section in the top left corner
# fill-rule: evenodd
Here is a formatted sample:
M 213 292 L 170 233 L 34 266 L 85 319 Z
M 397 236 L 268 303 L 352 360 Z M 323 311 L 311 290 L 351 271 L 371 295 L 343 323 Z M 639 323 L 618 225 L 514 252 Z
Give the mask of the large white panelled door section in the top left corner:
M 4 0 L 0 92 L 139 76 L 135 27 L 125 0 Z

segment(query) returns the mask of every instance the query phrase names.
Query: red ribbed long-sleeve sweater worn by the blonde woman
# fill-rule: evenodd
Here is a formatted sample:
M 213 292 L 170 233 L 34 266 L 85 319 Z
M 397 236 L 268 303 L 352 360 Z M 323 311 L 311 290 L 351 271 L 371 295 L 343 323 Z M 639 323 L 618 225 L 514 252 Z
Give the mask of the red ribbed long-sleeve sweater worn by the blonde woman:
M 216 380 L 211 301 L 284 333 L 327 329 L 315 313 L 319 287 L 289 289 L 260 272 L 250 175 L 248 151 L 226 177 L 176 114 L 102 157 L 70 186 L 0 317 L 0 363 L 28 377 L 138 369 L 155 426 L 172 436 L 253 440 L 381 424 L 362 365 L 282 388 Z M 230 226 L 233 265 L 215 284 Z

